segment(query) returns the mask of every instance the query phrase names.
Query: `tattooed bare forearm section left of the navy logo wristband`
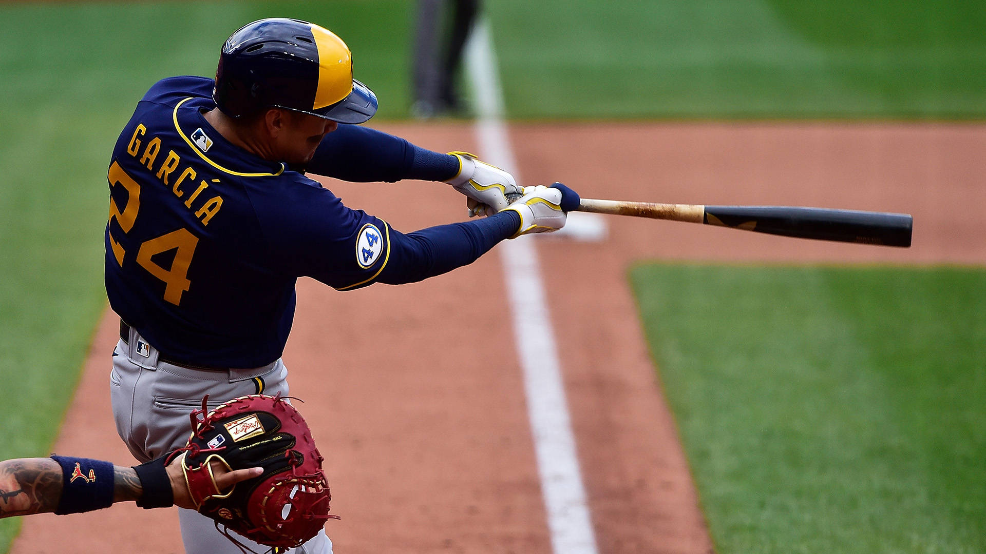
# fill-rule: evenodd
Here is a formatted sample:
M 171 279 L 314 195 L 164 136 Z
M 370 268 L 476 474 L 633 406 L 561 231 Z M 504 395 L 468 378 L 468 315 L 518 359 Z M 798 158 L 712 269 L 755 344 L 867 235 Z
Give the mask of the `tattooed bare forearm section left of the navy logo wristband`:
M 54 512 L 61 486 L 61 466 L 49 457 L 0 461 L 0 518 Z

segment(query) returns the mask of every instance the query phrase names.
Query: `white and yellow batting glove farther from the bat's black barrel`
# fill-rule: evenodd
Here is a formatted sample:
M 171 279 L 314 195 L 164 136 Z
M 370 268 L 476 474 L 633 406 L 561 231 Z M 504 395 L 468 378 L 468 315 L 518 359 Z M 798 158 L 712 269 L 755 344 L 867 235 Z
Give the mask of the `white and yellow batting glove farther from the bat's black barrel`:
M 447 180 L 456 190 L 468 197 L 469 217 L 490 216 L 507 207 L 506 194 L 523 194 L 514 175 L 496 166 L 480 162 L 468 152 L 450 152 L 458 158 L 458 174 Z

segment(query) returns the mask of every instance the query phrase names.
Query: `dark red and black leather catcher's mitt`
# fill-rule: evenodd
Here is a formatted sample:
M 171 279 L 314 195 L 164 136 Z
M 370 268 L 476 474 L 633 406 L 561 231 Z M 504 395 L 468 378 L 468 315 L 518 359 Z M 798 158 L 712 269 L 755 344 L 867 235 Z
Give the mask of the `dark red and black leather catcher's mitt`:
M 209 411 L 190 414 L 188 443 L 181 468 L 188 492 L 199 513 L 214 519 L 216 527 L 240 544 L 227 529 L 275 547 L 291 548 L 314 537 L 326 519 L 331 495 L 321 469 L 312 432 L 305 419 L 280 394 L 250 394 L 234 398 Z M 220 491 L 210 462 L 229 469 L 262 467 L 263 473 Z

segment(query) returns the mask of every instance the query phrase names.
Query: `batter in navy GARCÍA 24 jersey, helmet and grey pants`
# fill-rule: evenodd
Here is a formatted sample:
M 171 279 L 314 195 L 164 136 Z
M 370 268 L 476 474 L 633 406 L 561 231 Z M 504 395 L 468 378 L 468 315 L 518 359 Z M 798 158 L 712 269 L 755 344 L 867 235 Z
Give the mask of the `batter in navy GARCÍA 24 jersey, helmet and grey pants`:
M 231 35 L 215 79 L 164 79 L 137 104 L 113 148 L 106 225 L 106 294 L 121 318 L 111 399 L 137 459 L 180 446 L 205 394 L 288 393 L 298 277 L 339 291 L 419 281 L 560 229 L 578 205 L 560 183 L 522 189 L 471 155 L 360 126 L 376 109 L 338 36 L 279 18 Z M 403 234 L 306 172 L 445 181 L 487 217 Z M 239 552 L 211 519 L 179 519 L 187 552 Z M 331 542 L 322 531 L 296 550 L 327 554 Z

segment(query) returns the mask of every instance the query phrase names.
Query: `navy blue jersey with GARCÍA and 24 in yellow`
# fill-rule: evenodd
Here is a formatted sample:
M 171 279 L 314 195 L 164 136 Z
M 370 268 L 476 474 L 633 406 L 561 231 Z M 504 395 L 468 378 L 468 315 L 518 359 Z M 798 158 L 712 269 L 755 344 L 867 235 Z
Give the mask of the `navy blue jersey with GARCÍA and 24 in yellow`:
M 257 367 L 283 351 L 296 279 L 340 290 L 373 283 L 391 230 L 224 139 L 204 117 L 212 87 L 201 77 L 155 84 L 116 141 L 106 294 L 168 356 Z

